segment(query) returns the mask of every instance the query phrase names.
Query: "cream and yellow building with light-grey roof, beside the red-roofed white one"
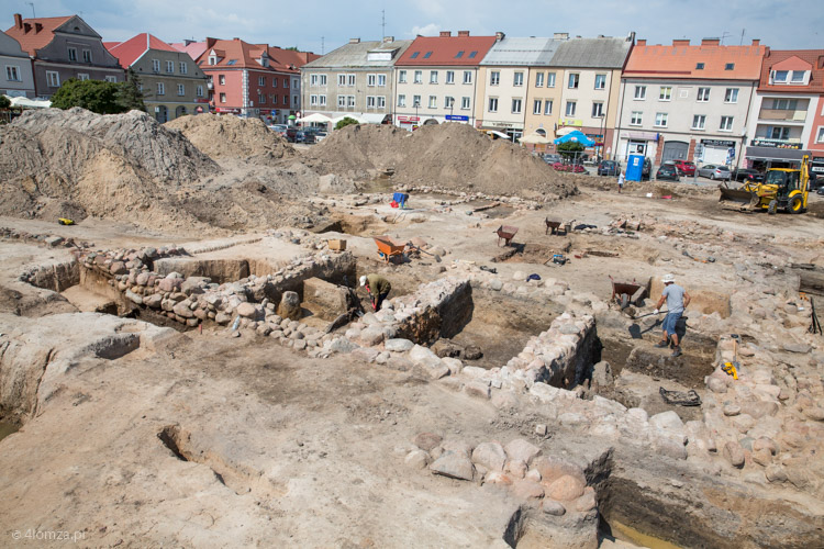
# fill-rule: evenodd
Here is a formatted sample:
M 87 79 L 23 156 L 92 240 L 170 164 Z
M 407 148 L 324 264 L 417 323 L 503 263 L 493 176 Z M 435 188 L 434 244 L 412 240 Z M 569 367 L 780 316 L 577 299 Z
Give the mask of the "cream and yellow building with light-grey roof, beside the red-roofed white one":
M 544 91 L 545 68 L 560 44 L 553 38 L 501 37 L 480 63 L 478 76 L 479 101 L 475 104 L 477 127 L 498 132 L 516 139 L 530 123 L 530 133 L 554 136 L 554 126 L 546 123 L 544 109 L 553 112 L 553 99 Z M 554 83 L 553 79 L 553 83 Z M 530 90 L 541 90 L 530 98 Z M 531 114 L 532 113 L 532 114 Z M 528 117 L 528 119 L 527 119 Z

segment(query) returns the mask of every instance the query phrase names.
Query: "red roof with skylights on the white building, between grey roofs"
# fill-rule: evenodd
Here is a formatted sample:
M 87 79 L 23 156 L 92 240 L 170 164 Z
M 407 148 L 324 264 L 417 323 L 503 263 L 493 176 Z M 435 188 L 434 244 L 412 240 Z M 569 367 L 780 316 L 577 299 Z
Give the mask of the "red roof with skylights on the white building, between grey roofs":
M 401 55 L 396 65 L 477 66 L 494 43 L 494 36 L 419 36 Z M 458 57 L 460 52 L 463 54 Z

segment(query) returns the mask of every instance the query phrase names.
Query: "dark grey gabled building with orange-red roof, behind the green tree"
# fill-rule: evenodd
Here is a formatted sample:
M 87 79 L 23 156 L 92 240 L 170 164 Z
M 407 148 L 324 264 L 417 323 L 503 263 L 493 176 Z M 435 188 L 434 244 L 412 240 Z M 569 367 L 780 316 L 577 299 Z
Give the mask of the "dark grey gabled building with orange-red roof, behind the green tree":
M 36 97 L 49 98 L 69 78 L 122 82 L 125 72 L 94 30 L 77 15 L 23 19 L 5 34 L 31 58 Z

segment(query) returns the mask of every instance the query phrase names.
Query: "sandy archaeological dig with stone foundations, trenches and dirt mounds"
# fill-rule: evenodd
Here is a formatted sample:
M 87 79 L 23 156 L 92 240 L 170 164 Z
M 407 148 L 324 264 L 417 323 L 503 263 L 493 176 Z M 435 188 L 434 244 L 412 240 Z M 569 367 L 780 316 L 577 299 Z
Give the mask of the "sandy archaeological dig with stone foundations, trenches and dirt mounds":
M 4 547 L 824 545 L 824 197 L 619 194 L 457 123 L 0 143 Z

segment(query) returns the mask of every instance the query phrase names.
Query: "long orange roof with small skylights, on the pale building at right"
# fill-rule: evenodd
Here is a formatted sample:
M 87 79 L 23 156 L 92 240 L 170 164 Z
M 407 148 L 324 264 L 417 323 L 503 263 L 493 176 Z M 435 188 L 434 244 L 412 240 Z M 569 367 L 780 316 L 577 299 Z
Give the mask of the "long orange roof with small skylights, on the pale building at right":
M 749 46 L 722 46 L 705 38 L 691 46 L 676 40 L 671 46 L 647 46 L 638 41 L 626 61 L 624 77 L 695 80 L 758 80 L 766 46 L 753 41 Z

